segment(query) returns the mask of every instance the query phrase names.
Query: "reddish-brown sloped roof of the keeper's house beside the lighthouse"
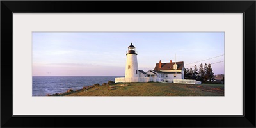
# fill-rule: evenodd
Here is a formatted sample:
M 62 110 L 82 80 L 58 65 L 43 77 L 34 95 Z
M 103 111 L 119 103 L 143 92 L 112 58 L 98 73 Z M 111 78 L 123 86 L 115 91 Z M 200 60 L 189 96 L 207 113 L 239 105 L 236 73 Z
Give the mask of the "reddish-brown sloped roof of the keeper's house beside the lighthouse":
M 155 69 L 154 70 L 174 70 L 173 69 L 173 65 L 175 64 L 175 62 L 172 63 L 162 63 L 162 68 L 159 69 L 159 63 L 156 63 Z M 182 70 L 182 68 L 184 67 L 184 62 L 180 61 L 180 62 L 176 62 L 176 64 L 178 65 L 177 70 Z

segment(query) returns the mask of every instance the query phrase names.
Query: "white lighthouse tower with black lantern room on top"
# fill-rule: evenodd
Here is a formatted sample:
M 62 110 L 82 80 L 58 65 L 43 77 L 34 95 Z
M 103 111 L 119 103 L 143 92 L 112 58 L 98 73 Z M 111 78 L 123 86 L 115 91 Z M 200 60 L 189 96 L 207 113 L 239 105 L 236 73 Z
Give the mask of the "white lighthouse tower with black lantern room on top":
M 138 78 L 138 61 L 137 52 L 135 51 L 134 45 L 129 45 L 128 51 L 126 52 L 126 66 L 125 66 L 125 78 Z

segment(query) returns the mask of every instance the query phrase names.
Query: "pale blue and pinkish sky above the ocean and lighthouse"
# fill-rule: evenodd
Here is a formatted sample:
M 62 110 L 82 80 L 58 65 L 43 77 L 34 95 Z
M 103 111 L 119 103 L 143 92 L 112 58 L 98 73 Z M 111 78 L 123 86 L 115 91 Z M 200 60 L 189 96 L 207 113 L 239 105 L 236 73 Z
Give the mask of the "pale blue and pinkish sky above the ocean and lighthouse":
M 184 61 L 211 63 L 224 74 L 223 32 L 33 32 L 33 76 L 124 76 L 126 51 L 134 45 L 139 70 Z

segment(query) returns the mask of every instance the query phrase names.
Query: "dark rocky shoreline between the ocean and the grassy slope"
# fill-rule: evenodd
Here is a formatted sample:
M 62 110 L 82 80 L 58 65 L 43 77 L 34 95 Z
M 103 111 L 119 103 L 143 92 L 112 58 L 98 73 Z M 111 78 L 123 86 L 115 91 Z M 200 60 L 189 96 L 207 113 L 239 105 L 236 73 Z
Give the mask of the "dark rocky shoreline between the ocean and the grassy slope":
M 113 85 L 113 84 L 116 84 L 116 83 L 114 81 L 108 81 L 108 83 L 103 83 L 102 85 L 97 83 L 97 84 L 93 84 L 93 85 L 90 85 L 90 86 L 84 86 L 83 88 L 78 89 L 78 90 L 72 90 L 70 88 L 64 93 L 54 93 L 52 95 L 47 94 L 47 96 L 64 96 L 64 95 L 68 95 L 68 94 L 71 94 L 71 93 L 76 93 L 76 92 L 79 92 L 79 91 L 90 90 L 90 89 L 92 89 L 94 87 L 97 87 L 97 86 L 109 86 L 109 85 Z M 115 89 L 115 87 L 113 87 L 113 86 L 109 86 L 109 88 L 111 88 L 111 90 Z

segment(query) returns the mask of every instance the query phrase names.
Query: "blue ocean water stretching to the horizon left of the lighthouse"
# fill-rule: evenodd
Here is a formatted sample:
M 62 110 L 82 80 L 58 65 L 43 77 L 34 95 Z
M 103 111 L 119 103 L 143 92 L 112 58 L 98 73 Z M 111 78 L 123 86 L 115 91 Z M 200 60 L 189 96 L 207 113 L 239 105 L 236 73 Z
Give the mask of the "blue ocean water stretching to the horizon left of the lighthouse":
M 116 77 L 124 76 L 33 76 L 32 95 L 64 93 L 68 89 L 77 90 L 84 86 L 115 81 Z

